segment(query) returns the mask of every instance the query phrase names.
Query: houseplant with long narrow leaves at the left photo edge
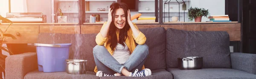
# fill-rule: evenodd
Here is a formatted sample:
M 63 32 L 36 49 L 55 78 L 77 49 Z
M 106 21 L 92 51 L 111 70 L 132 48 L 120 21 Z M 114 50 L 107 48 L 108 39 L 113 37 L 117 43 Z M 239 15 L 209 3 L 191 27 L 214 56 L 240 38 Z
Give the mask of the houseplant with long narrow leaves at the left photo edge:
M 13 55 L 12 51 L 10 51 L 9 48 L 3 47 L 3 43 L 7 42 L 5 40 L 6 37 L 12 37 L 12 39 L 14 39 L 14 40 L 17 38 L 15 36 L 13 36 L 12 34 L 6 34 L 8 31 L 8 28 L 10 27 L 10 25 L 12 25 L 12 21 L 2 17 L 1 15 L 0 15 L 0 20 L 10 23 L 9 26 L 4 31 L 0 28 L 0 45 L 1 45 L 0 46 L 0 53 L 1 53 L 0 54 L 0 78 L 2 78 L 2 72 L 5 75 L 5 59 L 7 57 L 6 55 L 2 54 L 2 50 L 8 52 L 10 55 Z

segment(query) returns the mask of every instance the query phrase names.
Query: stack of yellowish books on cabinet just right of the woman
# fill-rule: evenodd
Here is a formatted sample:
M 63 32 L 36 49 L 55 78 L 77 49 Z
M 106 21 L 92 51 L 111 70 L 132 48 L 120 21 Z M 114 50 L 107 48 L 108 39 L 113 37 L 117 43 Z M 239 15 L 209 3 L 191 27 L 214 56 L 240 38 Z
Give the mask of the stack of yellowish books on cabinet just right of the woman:
M 140 23 L 156 22 L 156 17 L 139 17 L 137 22 L 140 22 Z

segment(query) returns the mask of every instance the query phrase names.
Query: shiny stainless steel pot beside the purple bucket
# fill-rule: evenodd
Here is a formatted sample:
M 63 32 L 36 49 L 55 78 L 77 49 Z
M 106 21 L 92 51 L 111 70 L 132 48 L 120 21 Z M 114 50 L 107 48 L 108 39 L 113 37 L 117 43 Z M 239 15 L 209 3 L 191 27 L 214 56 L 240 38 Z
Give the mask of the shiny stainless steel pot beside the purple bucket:
M 85 74 L 87 68 L 87 60 L 82 59 L 66 59 L 66 72 L 69 74 Z

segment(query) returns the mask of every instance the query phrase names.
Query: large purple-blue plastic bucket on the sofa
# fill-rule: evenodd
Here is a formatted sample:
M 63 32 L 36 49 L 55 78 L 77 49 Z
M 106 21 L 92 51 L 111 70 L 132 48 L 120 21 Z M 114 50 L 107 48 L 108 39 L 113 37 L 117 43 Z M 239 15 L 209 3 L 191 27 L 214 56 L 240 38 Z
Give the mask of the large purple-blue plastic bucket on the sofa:
M 38 57 L 38 71 L 64 72 L 69 57 L 71 43 L 40 44 L 35 43 Z

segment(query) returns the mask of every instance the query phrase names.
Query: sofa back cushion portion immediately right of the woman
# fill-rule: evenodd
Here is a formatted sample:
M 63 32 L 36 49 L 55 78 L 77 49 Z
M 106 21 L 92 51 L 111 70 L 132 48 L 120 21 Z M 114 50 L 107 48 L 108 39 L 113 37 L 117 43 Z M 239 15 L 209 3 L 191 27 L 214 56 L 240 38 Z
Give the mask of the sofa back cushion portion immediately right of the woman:
M 149 54 L 145 61 L 145 68 L 151 70 L 166 68 L 165 47 L 166 30 L 159 28 L 144 28 L 140 31 L 147 38 L 145 44 L 148 45 Z

